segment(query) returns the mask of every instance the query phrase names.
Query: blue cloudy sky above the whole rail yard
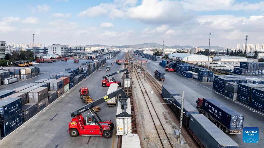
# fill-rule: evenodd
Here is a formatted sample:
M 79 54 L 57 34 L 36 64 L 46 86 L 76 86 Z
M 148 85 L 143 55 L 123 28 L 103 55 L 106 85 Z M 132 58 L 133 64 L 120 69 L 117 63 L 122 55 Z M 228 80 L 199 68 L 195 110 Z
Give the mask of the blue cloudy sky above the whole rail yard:
M 46 45 L 264 44 L 264 1 L 2 1 L 0 40 Z

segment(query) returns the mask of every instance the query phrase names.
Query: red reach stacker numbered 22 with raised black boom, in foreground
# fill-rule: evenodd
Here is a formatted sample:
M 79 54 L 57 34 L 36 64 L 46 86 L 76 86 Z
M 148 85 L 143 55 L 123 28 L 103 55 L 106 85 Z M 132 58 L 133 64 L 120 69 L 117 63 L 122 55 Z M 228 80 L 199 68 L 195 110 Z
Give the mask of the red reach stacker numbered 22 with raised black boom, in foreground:
M 105 138 L 111 138 L 114 124 L 111 120 L 106 120 L 103 122 L 93 107 L 96 107 L 97 105 L 106 102 L 111 98 L 117 97 L 120 94 L 121 96 L 119 100 L 121 100 L 124 104 L 124 107 L 126 107 L 125 102 L 127 102 L 129 96 L 126 96 L 125 92 L 122 90 L 122 88 L 120 88 L 70 113 L 71 117 L 73 117 L 72 121 L 69 122 L 70 136 L 101 136 Z M 94 111 L 97 118 L 92 114 L 91 109 Z M 89 110 L 91 114 L 84 118 L 82 113 L 87 110 Z

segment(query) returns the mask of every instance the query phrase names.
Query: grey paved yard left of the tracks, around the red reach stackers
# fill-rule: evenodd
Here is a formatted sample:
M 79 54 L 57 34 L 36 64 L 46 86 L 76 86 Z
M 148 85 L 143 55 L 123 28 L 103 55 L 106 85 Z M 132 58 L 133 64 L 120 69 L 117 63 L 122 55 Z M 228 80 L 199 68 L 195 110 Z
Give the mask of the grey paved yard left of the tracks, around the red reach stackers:
M 122 51 L 115 59 L 124 59 L 125 52 Z M 113 59 L 108 59 L 107 63 L 110 66 Z M 17 82 L 8 86 L 0 86 L 1 90 L 12 90 L 21 87 L 28 83 L 40 80 L 49 79 L 49 74 L 55 72 L 63 72 L 68 67 L 81 66 L 91 60 L 79 59 L 79 63 L 73 63 L 73 60 L 67 62 L 41 63 L 37 65 L 40 72 L 45 74 Z M 85 105 L 79 97 L 80 87 L 88 87 L 89 95 L 94 100 L 106 95 L 108 87 L 102 87 L 102 76 L 106 74 L 106 67 L 101 67 L 102 71 L 96 71 L 88 76 L 66 92 L 63 96 L 40 111 L 37 115 L 25 122 L 7 137 L 0 141 L 0 147 L 116 147 L 117 136 L 113 131 L 113 136 L 110 139 L 105 139 L 101 136 L 77 136 L 71 137 L 68 132 L 68 123 L 71 121 L 70 113 L 79 107 Z M 121 70 L 122 65 L 111 65 L 111 70 L 115 72 Z M 121 80 L 122 75 L 116 75 L 114 78 Z M 115 124 L 115 114 L 117 107 L 108 107 L 106 103 L 100 104 L 101 111 L 98 115 L 102 120 L 112 120 Z M 83 116 L 88 115 L 88 111 L 84 112 Z

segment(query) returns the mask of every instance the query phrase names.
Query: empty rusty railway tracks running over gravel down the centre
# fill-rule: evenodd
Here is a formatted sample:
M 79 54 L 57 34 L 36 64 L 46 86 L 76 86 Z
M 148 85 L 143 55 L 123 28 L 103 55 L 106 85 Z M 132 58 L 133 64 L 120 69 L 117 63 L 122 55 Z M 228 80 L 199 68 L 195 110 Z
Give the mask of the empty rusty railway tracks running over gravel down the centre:
M 125 57 L 128 58 L 131 56 L 128 53 Z M 133 57 L 133 60 L 136 60 L 136 59 Z M 153 105 L 153 101 L 150 99 L 148 92 L 144 86 L 144 83 L 142 82 L 142 79 L 140 79 L 139 74 L 136 70 L 136 67 L 140 68 L 140 65 L 139 65 L 139 63 L 135 63 L 134 66 L 135 66 L 134 67 L 134 74 L 136 76 L 136 81 L 138 81 L 138 84 L 140 86 L 140 90 L 142 92 L 145 103 L 146 103 L 147 108 L 149 110 L 149 114 L 150 114 L 151 119 L 153 121 L 156 133 L 159 137 L 161 147 L 173 147 L 173 144 L 169 140 L 169 136 L 167 135 L 166 130 L 164 129 L 163 124 L 161 123 L 162 119 L 160 119 L 159 115 L 157 114 L 157 111 Z M 152 85 L 155 87 L 155 89 L 157 89 L 157 91 L 159 93 L 161 93 L 161 91 L 162 91 L 161 86 L 155 82 L 154 78 L 148 72 L 147 72 L 147 78 L 148 78 L 149 82 L 152 83 Z

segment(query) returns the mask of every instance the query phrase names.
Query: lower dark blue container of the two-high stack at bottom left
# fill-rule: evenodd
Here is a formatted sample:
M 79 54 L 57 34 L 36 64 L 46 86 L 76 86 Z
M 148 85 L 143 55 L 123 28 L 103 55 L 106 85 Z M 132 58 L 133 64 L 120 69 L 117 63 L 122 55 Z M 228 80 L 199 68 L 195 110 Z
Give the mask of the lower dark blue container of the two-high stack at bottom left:
M 1 137 L 5 137 L 23 124 L 22 108 L 16 115 L 0 122 Z

